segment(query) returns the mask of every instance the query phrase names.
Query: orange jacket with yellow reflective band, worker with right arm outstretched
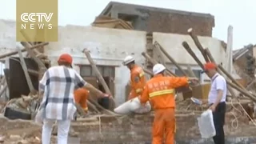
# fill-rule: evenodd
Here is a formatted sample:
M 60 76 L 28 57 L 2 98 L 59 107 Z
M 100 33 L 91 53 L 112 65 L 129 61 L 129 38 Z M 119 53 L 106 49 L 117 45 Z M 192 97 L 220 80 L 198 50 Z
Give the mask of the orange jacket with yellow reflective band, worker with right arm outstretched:
M 164 77 L 162 74 L 155 75 L 146 82 L 141 102 L 150 100 L 154 110 L 175 108 L 174 89 L 180 86 L 187 86 L 188 78 L 185 77 Z

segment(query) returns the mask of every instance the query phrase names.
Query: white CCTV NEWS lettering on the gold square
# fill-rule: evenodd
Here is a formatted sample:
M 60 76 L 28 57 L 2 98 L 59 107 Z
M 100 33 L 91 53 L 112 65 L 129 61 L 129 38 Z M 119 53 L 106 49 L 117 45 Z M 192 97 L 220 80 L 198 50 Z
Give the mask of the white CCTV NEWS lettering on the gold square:
M 52 29 L 53 25 L 50 23 L 54 13 L 23 13 L 21 15 L 22 29 Z

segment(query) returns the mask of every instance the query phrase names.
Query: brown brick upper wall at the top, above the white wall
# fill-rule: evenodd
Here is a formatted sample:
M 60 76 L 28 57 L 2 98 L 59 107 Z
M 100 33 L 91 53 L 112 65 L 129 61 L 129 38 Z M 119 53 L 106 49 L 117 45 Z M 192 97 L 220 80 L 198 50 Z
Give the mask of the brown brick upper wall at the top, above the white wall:
M 197 35 L 212 36 L 214 18 L 157 11 L 150 11 L 149 14 L 150 16 L 146 21 L 146 31 L 187 34 L 187 30 L 192 27 Z

